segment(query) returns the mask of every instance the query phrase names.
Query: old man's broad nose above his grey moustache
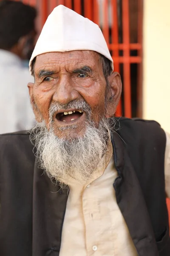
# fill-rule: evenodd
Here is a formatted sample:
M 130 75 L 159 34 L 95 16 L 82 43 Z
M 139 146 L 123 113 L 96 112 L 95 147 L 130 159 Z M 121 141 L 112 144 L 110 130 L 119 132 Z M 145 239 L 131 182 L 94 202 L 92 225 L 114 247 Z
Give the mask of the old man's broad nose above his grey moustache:
M 68 104 L 74 99 L 79 97 L 79 93 L 74 89 L 74 85 L 71 84 L 69 79 L 62 78 L 57 84 L 57 89 L 53 95 L 53 100 L 61 104 Z

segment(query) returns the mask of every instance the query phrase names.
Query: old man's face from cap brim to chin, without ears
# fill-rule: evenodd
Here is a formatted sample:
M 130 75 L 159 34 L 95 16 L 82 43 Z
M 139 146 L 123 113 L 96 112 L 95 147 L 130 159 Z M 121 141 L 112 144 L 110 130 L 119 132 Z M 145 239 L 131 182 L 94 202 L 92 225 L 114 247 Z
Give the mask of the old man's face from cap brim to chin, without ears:
M 105 117 L 106 80 L 93 51 L 50 52 L 38 55 L 34 65 L 35 83 L 30 90 L 37 120 L 52 121 L 57 137 L 82 137 L 85 124 L 96 128 Z M 72 103 L 85 102 L 91 115 Z M 59 105 L 57 111 L 51 107 Z M 81 104 L 80 104 L 81 105 Z M 36 106 L 36 108 L 35 108 Z M 49 111 L 50 110 L 50 111 Z

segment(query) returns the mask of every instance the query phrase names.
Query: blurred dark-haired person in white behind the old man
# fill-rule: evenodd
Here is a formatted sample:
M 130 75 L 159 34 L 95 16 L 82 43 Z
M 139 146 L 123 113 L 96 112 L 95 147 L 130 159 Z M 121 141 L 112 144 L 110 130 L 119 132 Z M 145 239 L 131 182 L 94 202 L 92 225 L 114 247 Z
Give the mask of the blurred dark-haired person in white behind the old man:
M 0 134 L 32 128 L 27 84 L 30 76 L 23 60 L 30 58 L 36 36 L 34 7 L 14 1 L 0 2 Z

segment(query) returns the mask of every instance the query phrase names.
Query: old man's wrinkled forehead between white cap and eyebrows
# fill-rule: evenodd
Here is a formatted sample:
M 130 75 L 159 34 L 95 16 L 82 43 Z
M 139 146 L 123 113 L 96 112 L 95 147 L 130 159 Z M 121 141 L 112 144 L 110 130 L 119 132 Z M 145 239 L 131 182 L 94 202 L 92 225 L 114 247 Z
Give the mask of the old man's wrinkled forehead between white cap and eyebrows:
M 78 68 L 81 66 L 95 68 L 99 66 L 99 54 L 89 50 L 78 50 L 70 52 L 47 52 L 36 57 L 34 72 L 39 69 Z

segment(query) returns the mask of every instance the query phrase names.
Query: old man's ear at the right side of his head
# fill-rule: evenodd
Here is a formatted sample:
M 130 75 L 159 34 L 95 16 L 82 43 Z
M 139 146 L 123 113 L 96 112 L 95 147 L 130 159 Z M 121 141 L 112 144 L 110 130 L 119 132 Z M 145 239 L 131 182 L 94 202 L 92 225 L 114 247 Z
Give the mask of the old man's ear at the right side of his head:
M 122 93 L 122 81 L 120 74 L 113 72 L 108 77 L 108 85 L 106 88 L 106 117 L 112 117 L 116 112 L 117 105 Z

